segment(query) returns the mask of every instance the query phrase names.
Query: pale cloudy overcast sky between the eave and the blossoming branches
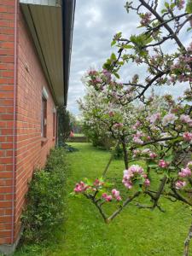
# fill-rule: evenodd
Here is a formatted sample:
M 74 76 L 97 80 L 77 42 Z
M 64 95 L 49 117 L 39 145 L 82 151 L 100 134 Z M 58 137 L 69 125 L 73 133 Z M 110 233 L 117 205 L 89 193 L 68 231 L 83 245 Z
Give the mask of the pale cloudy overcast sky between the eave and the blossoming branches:
M 133 12 L 127 15 L 125 2 L 125 0 L 76 1 L 67 106 L 74 114 L 79 114 L 77 100 L 84 96 L 84 84 L 81 78 L 90 67 L 102 67 L 103 62 L 115 50 L 110 46 L 113 35 L 116 32 L 123 32 L 124 37 L 129 37 L 136 33 L 136 27 L 139 25 L 137 15 Z M 183 33 L 183 38 L 187 44 L 191 40 L 186 32 Z M 143 69 L 131 67 L 129 70 L 124 70 L 123 77 L 130 79 L 134 73 L 141 75 L 143 72 Z M 174 93 L 177 91 L 177 89 L 173 90 Z

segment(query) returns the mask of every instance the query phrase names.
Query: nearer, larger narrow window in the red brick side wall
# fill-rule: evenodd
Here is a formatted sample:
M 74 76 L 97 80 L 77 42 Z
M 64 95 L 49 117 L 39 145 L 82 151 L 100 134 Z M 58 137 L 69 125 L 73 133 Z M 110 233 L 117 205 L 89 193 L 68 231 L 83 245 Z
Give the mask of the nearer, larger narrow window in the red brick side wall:
M 48 93 L 44 88 L 42 93 L 41 137 L 47 137 L 47 99 Z

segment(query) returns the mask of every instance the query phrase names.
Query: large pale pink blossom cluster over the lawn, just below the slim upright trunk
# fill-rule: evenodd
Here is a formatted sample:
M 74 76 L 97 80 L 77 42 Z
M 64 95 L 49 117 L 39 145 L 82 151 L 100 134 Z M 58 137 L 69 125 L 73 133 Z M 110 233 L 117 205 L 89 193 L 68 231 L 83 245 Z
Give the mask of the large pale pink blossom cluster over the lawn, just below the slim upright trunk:
M 143 167 L 132 165 L 128 168 L 128 170 L 124 171 L 122 183 L 125 185 L 125 188 L 132 189 L 137 180 L 143 182 L 144 186 L 150 185 L 150 181 L 147 174 L 144 172 Z

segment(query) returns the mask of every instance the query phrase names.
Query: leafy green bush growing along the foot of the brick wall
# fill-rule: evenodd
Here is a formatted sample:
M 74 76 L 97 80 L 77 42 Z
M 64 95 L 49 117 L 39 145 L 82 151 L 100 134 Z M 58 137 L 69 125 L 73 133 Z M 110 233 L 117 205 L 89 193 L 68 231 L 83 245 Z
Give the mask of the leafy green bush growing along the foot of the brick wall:
M 45 168 L 34 172 L 29 184 L 26 209 L 21 218 L 24 241 L 44 241 L 63 222 L 66 175 L 65 150 L 55 148 Z

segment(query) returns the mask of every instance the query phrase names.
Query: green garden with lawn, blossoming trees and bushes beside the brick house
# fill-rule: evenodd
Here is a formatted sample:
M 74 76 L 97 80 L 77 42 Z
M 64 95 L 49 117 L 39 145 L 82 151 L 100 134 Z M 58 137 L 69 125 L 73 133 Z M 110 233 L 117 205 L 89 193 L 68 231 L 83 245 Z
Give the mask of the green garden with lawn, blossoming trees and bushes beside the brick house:
M 127 1 L 125 10 L 140 20 L 136 33 L 117 32 L 103 67 L 90 68 L 82 79 L 86 95 L 79 109 L 90 143 L 63 149 L 59 133 L 62 147 L 55 150 L 63 153 L 45 171 L 62 174 L 63 186 L 56 174 L 44 175 L 38 195 L 48 194 L 48 185 L 53 204 L 49 196 L 43 205 L 29 197 L 35 211 L 48 207 L 49 214 L 26 209 L 26 241 L 37 242 L 15 255 L 192 253 L 192 44 L 184 39 L 192 2 Z M 138 73 L 126 79 L 132 66 Z M 50 239 L 39 242 L 44 236 Z

